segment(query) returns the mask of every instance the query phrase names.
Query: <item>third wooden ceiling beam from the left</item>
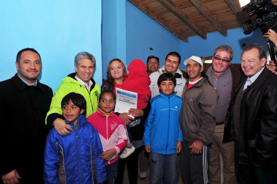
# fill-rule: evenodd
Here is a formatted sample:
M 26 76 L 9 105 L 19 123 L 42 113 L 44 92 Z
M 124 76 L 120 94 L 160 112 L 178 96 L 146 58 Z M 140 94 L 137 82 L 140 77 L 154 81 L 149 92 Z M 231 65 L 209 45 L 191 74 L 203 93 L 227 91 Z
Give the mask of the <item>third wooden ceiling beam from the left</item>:
M 214 14 L 208 9 L 202 0 L 190 0 L 190 2 L 199 10 L 201 14 L 221 33 L 224 37 L 227 37 L 227 30 L 220 23 L 220 21 L 214 16 Z

